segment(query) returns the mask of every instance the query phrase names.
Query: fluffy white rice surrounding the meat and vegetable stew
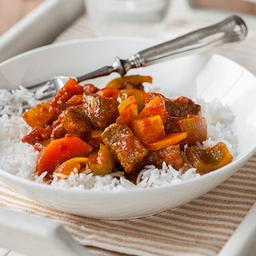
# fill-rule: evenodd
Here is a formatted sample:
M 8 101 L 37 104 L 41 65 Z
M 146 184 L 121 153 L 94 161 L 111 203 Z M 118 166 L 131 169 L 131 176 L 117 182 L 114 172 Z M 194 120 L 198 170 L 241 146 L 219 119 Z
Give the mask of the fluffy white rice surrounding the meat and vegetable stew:
M 41 96 L 47 88 L 37 93 L 31 93 L 20 86 L 18 90 L 10 93 L 0 90 L 0 167 L 2 170 L 17 175 L 20 178 L 43 182 L 46 172 L 38 177 L 35 172 L 38 152 L 21 138 L 30 132 L 30 127 L 22 120 L 22 104 L 28 106 L 38 104 L 35 99 Z M 197 100 L 202 106 L 202 116 L 208 124 L 208 139 L 203 142 L 202 147 L 214 146 L 217 142 L 225 142 L 231 154 L 235 156 L 237 140 L 230 129 L 234 115 L 226 106 L 214 101 L 205 103 Z M 138 175 L 137 186 L 123 177 L 122 172 L 108 174 L 105 176 L 94 175 L 90 168 L 82 173 L 71 173 L 69 177 L 59 179 L 54 174 L 50 186 L 71 187 L 87 190 L 132 190 L 147 187 L 170 186 L 170 184 L 181 183 L 190 178 L 198 178 L 195 168 L 186 164 L 181 170 L 174 170 L 172 166 L 162 163 L 162 169 L 155 166 L 145 166 Z

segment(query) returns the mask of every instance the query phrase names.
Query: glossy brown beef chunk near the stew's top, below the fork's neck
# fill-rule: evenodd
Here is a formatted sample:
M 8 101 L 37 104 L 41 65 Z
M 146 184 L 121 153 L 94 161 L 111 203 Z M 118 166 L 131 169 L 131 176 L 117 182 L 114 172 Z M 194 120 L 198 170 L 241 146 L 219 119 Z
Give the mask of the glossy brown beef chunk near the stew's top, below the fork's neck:
M 118 118 L 118 102 L 96 94 L 84 94 L 84 110 L 95 127 L 106 128 Z

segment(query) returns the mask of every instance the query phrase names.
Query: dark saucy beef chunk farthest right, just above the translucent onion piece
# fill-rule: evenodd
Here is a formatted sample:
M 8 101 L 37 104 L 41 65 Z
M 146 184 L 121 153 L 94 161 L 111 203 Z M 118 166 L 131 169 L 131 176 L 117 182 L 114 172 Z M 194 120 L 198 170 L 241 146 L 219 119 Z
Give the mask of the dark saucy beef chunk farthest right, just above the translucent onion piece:
M 166 98 L 165 104 L 166 111 L 171 117 L 186 118 L 188 114 L 198 114 L 201 110 L 201 106 L 186 97 L 179 97 L 174 101 Z

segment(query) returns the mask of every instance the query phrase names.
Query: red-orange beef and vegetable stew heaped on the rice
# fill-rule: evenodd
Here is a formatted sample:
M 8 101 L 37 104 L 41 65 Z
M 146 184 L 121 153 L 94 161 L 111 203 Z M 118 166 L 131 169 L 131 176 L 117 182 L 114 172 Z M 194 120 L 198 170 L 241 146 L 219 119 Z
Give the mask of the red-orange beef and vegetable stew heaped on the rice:
M 146 165 L 179 170 L 186 162 L 206 174 L 232 161 L 223 142 L 200 146 L 207 138 L 201 106 L 146 93 L 143 82 L 152 78 L 115 78 L 102 89 L 70 78 L 52 102 L 27 110 L 22 118 L 32 130 L 22 142 L 39 151 L 38 175 L 67 178 L 89 166 L 96 175 L 124 171 L 133 182 Z

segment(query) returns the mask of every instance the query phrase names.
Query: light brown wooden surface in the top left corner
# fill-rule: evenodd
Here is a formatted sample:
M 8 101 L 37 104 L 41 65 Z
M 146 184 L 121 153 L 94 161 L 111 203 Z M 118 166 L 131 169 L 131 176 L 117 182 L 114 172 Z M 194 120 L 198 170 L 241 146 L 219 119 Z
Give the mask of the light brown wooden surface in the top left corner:
M 0 0 L 0 35 L 30 13 L 43 0 Z

